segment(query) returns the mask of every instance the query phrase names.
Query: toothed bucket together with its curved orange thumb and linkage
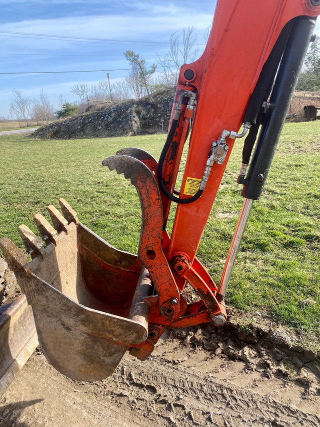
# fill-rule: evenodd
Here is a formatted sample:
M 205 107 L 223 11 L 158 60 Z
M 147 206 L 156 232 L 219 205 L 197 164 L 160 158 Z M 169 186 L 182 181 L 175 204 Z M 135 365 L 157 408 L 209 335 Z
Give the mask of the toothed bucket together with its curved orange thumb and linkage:
M 41 237 L 46 237 L 45 247 L 30 229 L 19 227 L 30 263 L 10 240 L 0 240 L 32 306 L 43 353 L 61 373 L 81 381 L 109 376 L 129 348 L 144 360 L 166 327 L 207 322 L 219 311 L 219 307 L 213 310 L 211 301 L 215 302 L 216 287 L 199 261 L 194 261 L 193 276 L 202 288 L 195 288 L 208 301 L 187 305 L 176 287 L 161 247 L 162 237 L 167 246 L 169 236 L 162 232 L 161 202 L 150 169 L 126 155 L 107 159 L 105 164 L 125 171 L 138 191 L 142 207 L 139 257 L 115 249 L 92 233 L 64 200 L 60 205 L 67 220 L 49 207 L 57 234 L 43 217 L 34 216 Z

